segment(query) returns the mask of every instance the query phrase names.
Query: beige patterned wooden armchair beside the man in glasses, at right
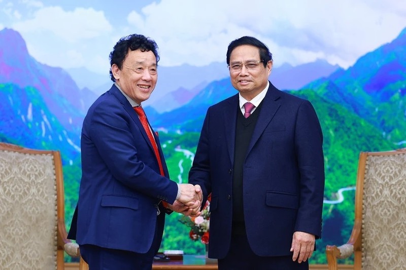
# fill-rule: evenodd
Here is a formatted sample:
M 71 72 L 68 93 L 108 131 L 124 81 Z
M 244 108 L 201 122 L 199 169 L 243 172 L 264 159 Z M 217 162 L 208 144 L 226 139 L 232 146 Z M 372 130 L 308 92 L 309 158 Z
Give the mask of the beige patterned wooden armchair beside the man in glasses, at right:
M 354 269 L 406 269 L 406 148 L 361 152 L 348 242 L 327 246 L 328 268 L 354 254 Z

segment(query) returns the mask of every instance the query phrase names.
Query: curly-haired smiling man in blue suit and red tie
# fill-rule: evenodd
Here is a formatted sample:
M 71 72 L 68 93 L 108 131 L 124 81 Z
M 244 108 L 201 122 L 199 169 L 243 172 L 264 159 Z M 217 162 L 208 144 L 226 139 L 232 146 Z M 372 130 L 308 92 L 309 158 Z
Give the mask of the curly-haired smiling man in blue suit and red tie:
M 155 88 L 158 61 L 150 38 L 122 37 L 110 53 L 114 84 L 83 122 L 82 179 L 70 238 L 90 270 L 151 269 L 165 213 L 196 215 L 200 208 L 198 186 L 168 178 L 159 138 L 141 107 Z

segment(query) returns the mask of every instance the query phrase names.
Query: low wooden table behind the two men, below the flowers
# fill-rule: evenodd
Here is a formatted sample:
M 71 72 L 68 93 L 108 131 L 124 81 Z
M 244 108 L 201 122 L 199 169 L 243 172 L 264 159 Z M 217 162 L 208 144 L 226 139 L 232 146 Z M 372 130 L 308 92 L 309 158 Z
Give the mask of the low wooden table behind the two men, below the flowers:
M 217 270 L 217 262 L 207 262 L 205 255 L 183 255 L 183 260 L 154 261 L 152 269 Z

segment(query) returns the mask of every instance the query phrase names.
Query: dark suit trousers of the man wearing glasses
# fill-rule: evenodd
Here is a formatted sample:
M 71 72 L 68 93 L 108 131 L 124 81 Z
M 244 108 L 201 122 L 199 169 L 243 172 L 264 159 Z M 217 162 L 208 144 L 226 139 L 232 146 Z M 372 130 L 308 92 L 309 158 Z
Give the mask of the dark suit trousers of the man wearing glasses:
M 293 253 L 292 253 L 293 255 Z M 230 249 L 224 259 L 218 259 L 219 270 L 308 270 L 309 262 L 292 260 L 290 256 L 263 257 L 256 255 L 247 235 L 232 234 Z

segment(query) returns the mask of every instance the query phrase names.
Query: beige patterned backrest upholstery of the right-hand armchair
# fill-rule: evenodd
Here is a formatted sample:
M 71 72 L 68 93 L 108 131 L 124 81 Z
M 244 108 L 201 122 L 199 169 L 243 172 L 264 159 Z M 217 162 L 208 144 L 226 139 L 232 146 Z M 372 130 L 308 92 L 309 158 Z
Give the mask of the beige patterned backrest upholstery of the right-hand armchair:
M 404 269 L 406 152 L 368 156 L 362 211 L 362 268 Z

